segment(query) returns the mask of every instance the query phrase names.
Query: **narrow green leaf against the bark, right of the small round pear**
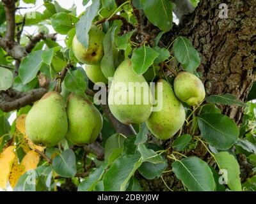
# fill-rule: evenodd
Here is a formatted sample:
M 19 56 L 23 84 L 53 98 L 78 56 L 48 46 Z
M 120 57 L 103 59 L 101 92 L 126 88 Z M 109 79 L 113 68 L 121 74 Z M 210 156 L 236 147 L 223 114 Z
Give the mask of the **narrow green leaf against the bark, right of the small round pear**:
M 242 103 L 236 99 L 236 96 L 232 94 L 224 95 L 211 95 L 205 99 L 208 103 L 221 103 L 225 105 L 237 105 L 237 106 L 247 106 L 246 103 Z

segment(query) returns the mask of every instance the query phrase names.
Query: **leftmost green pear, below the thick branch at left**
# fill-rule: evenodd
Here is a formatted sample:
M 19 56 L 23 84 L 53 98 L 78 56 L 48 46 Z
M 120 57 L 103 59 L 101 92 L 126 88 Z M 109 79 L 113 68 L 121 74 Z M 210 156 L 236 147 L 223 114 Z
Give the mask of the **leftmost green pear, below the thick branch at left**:
M 26 134 L 33 143 L 53 147 L 68 129 L 65 103 L 58 92 L 46 93 L 35 103 L 26 117 Z

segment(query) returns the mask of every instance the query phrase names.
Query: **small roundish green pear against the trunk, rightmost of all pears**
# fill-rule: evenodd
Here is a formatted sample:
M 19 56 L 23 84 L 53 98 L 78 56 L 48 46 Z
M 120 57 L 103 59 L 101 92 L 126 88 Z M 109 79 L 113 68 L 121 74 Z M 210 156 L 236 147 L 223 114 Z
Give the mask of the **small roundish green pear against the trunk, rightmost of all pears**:
M 175 77 L 174 92 L 180 101 L 195 106 L 204 101 L 205 89 L 201 80 L 187 71 L 180 72 Z

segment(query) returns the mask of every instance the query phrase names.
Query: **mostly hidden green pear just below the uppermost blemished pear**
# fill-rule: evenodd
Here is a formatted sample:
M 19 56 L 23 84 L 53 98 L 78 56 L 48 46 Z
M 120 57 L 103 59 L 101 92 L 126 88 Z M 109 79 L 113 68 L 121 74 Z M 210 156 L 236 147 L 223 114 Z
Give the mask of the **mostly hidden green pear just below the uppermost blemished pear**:
M 100 68 L 100 64 L 88 65 L 85 66 L 85 72 L 88 78 L 96 84 L 97 82 L 103 82 L 104 84 L 108 84 L 108 79 L 103 75 L 102 70 Z

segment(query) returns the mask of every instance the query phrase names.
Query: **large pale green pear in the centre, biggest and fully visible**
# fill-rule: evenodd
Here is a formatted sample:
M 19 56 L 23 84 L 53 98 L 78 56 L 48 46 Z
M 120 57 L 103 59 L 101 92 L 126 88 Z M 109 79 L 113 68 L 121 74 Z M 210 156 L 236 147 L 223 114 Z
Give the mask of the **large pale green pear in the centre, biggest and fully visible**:
M 140 124 L 150 116 L 152 93 L 145 78 L 133 70 L 130 59 L 123 61 L 116 69 L 108 101 L 111 113 L 124 124 Z

